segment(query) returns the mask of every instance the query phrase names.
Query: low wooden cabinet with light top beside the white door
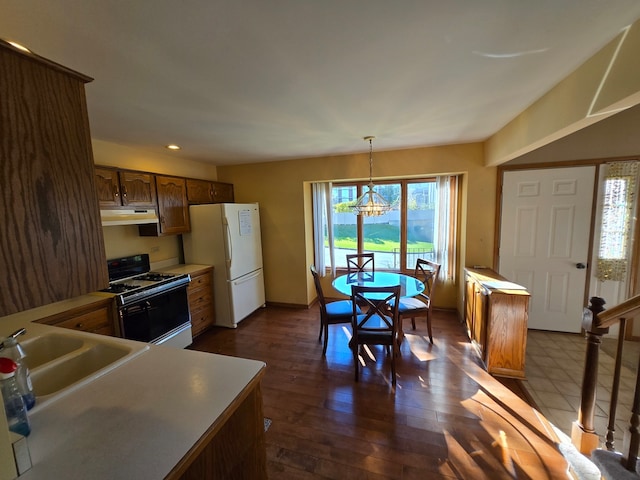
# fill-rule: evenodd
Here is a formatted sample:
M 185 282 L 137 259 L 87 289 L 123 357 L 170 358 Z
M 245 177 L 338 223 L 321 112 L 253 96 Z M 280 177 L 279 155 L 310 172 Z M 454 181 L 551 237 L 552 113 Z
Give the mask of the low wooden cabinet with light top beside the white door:
M 492 375 L 524 378 L 529 292 L 488 268 L 465 269 L 465 321 Z

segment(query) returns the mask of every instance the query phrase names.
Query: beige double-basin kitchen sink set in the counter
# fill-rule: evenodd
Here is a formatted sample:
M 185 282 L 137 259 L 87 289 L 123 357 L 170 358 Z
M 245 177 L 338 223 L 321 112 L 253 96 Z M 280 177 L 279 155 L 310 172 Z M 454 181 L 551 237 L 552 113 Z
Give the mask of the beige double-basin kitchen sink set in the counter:
M 20 342 L 36 406 L 67 394 L 146 351 L 149 345 L 100 335 L 47 333 Z

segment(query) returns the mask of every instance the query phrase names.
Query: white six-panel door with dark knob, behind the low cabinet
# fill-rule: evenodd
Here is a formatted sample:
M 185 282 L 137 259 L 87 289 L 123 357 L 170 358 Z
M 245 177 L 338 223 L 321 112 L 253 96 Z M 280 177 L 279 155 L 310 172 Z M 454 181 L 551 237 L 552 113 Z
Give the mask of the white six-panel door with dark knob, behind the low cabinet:
M 499 272 L 531 294 L 529 328 L 579 332 L 595 167 L 504 173 Z

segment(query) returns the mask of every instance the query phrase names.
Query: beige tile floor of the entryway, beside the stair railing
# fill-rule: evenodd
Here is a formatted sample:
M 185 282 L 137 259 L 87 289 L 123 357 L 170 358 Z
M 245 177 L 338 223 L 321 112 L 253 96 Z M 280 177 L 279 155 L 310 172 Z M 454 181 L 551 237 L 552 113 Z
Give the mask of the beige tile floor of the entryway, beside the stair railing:
M 585 337 L 579 334 L 529 330 L 527 337 L 527 380 L 523 385 L 540 412 L 569 436 L 571 424 L 578 418 L 586 345 Z M 627 355 L 637 355 L 634 347 L 636 345 L 625 347 L 631 350 Z M 603 441 L 607 432 L 614 364 L 614 358 L 601 349 L 595 428 Z M 614 434 L 617 450 L 622 450 L 624 432 L 629 427 L 635 383 L 636 373 L 623 365 Z

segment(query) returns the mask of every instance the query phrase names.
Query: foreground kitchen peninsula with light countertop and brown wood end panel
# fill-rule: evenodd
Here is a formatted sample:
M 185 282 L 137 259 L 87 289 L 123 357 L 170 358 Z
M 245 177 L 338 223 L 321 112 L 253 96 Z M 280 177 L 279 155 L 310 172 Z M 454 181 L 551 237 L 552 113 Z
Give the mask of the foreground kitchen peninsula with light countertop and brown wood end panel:
M 99 297 L 95 297 L 99 298 Z M 91 295 L 0 319 L 2 334 L 69 332 L 30 323 Z M 141 353 L 30 412 L 33 467 L 20 478 L 266 478 L 262 362 L 172 347 Z M 36 392 L 37 393 L 37 392 Z

